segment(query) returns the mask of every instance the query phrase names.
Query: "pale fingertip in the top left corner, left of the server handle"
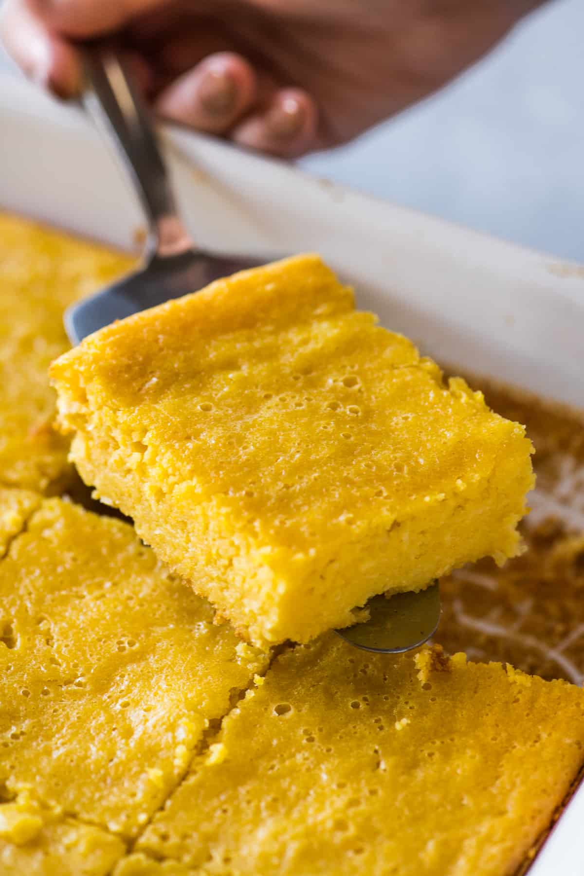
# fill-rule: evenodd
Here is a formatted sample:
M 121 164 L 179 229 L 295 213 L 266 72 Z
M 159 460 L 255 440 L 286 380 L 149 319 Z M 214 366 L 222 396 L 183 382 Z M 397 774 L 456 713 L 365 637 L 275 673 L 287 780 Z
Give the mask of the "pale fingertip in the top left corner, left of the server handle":
M 79 91 L 81 71 L 74 49 L 47 31 L 33 4 L 6 0 L 0 17 L 0 37 L 30 79 L 61 97 Z

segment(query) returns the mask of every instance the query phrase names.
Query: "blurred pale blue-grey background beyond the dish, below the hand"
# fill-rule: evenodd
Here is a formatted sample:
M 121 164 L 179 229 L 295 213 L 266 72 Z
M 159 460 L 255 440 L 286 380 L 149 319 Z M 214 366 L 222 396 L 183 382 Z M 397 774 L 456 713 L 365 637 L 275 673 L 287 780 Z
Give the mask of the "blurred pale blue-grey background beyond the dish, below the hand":
M 552 0 L 439 95 L 301 164 L 584 262 L 583 35 L 582 0 Z

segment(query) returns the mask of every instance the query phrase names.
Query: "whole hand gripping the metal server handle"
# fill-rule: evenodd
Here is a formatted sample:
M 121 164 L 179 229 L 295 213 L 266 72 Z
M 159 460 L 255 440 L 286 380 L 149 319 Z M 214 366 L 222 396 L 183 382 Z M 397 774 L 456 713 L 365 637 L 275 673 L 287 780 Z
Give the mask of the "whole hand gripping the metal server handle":
M 81 88 L 74 39 L 120 32 L 158 113 L 285 158 L 339 145 L 440 88 L 541 0 L 6 0 L 34 80 Z

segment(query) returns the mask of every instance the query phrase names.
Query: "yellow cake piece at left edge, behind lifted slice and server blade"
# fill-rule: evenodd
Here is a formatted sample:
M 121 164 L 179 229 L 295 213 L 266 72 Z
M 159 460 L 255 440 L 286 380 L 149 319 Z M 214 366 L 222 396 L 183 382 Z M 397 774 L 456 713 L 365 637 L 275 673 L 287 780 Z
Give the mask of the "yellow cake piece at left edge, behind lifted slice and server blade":
M 56 491 L 70 474 L 46 374 L 69 346 L 63 311 L 131 264 L 121 253 L 0 214 L 0 485 Z

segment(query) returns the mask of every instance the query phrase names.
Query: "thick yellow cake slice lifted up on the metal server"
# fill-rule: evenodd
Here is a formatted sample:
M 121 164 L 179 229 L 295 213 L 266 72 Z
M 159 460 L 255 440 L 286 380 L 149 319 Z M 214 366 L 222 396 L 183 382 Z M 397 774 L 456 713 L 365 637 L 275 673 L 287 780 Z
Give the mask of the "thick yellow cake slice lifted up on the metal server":
M 251 641 L 517 553 L 524 428 L 315 256 L 102 329 L 52 373 L 81 477 Z

